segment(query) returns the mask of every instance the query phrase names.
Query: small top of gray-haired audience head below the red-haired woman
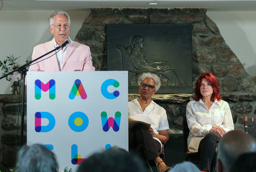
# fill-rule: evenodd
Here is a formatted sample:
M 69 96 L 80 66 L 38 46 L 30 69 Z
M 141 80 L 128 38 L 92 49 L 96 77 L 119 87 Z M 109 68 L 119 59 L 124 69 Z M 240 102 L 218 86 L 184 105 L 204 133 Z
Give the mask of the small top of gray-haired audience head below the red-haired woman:
M 192 162 L 184 161 L 176 164 L 170 172 L 201 172 Z

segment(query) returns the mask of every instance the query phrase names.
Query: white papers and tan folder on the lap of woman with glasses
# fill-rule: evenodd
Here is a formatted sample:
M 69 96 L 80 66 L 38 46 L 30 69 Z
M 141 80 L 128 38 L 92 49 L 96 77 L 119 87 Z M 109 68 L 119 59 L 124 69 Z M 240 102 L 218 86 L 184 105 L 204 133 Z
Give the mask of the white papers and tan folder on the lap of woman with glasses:
M 130 118 L 128 118 L 128 127 L 133 128 L 137 124 L 143 124 L 149 130 L 151 126 L 151 120 L 152 119 L 149 115 L 131 114 Z

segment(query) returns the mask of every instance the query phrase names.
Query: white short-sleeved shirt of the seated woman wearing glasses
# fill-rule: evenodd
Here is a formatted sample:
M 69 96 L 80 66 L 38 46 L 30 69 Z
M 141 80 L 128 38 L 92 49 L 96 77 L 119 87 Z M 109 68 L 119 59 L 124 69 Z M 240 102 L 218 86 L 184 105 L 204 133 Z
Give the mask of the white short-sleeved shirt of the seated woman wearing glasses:
M 154 130 L 154 133 L 159 134 L 158 131 L 161 130 L 169 130 L 169 124 L 167 120 L 166 111 L 163 107 L 157 105 L 153 100 L 151 100 L 150 104 L 145 108 L 144 112 L 141 109 L 141 105 L 139 104 L 138 99 L 134 99 L 131 102 L 128 102 L 128 117 L 130 115 L 149 115 L 152 119 L 151 127 Z M 155 137 L 161 145 L 161 141 Z

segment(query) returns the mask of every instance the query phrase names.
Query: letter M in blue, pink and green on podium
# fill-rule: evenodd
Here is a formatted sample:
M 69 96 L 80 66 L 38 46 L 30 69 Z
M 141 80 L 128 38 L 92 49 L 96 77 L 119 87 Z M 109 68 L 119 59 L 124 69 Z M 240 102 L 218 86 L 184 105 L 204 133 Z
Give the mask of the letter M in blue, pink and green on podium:
M 35 80 L 35 99 L 39 100 L 41 99 L 41 90 L 46 92 L 49 90 L 49 98 L 51 100 L 55 99 L 55 81 L 51 79 L 49 82 L 44 84 L 39 79 Z

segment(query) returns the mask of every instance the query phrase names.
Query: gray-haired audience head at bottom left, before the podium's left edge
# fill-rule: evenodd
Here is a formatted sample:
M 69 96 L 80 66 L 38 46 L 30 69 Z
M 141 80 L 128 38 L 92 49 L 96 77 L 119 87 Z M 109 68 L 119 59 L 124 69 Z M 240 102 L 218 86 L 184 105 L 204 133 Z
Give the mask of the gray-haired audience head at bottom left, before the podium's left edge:
M 58 163 L 54 153 L 46 146 L 24 145 L 18 153 L 16 172 L 58 172 Z

